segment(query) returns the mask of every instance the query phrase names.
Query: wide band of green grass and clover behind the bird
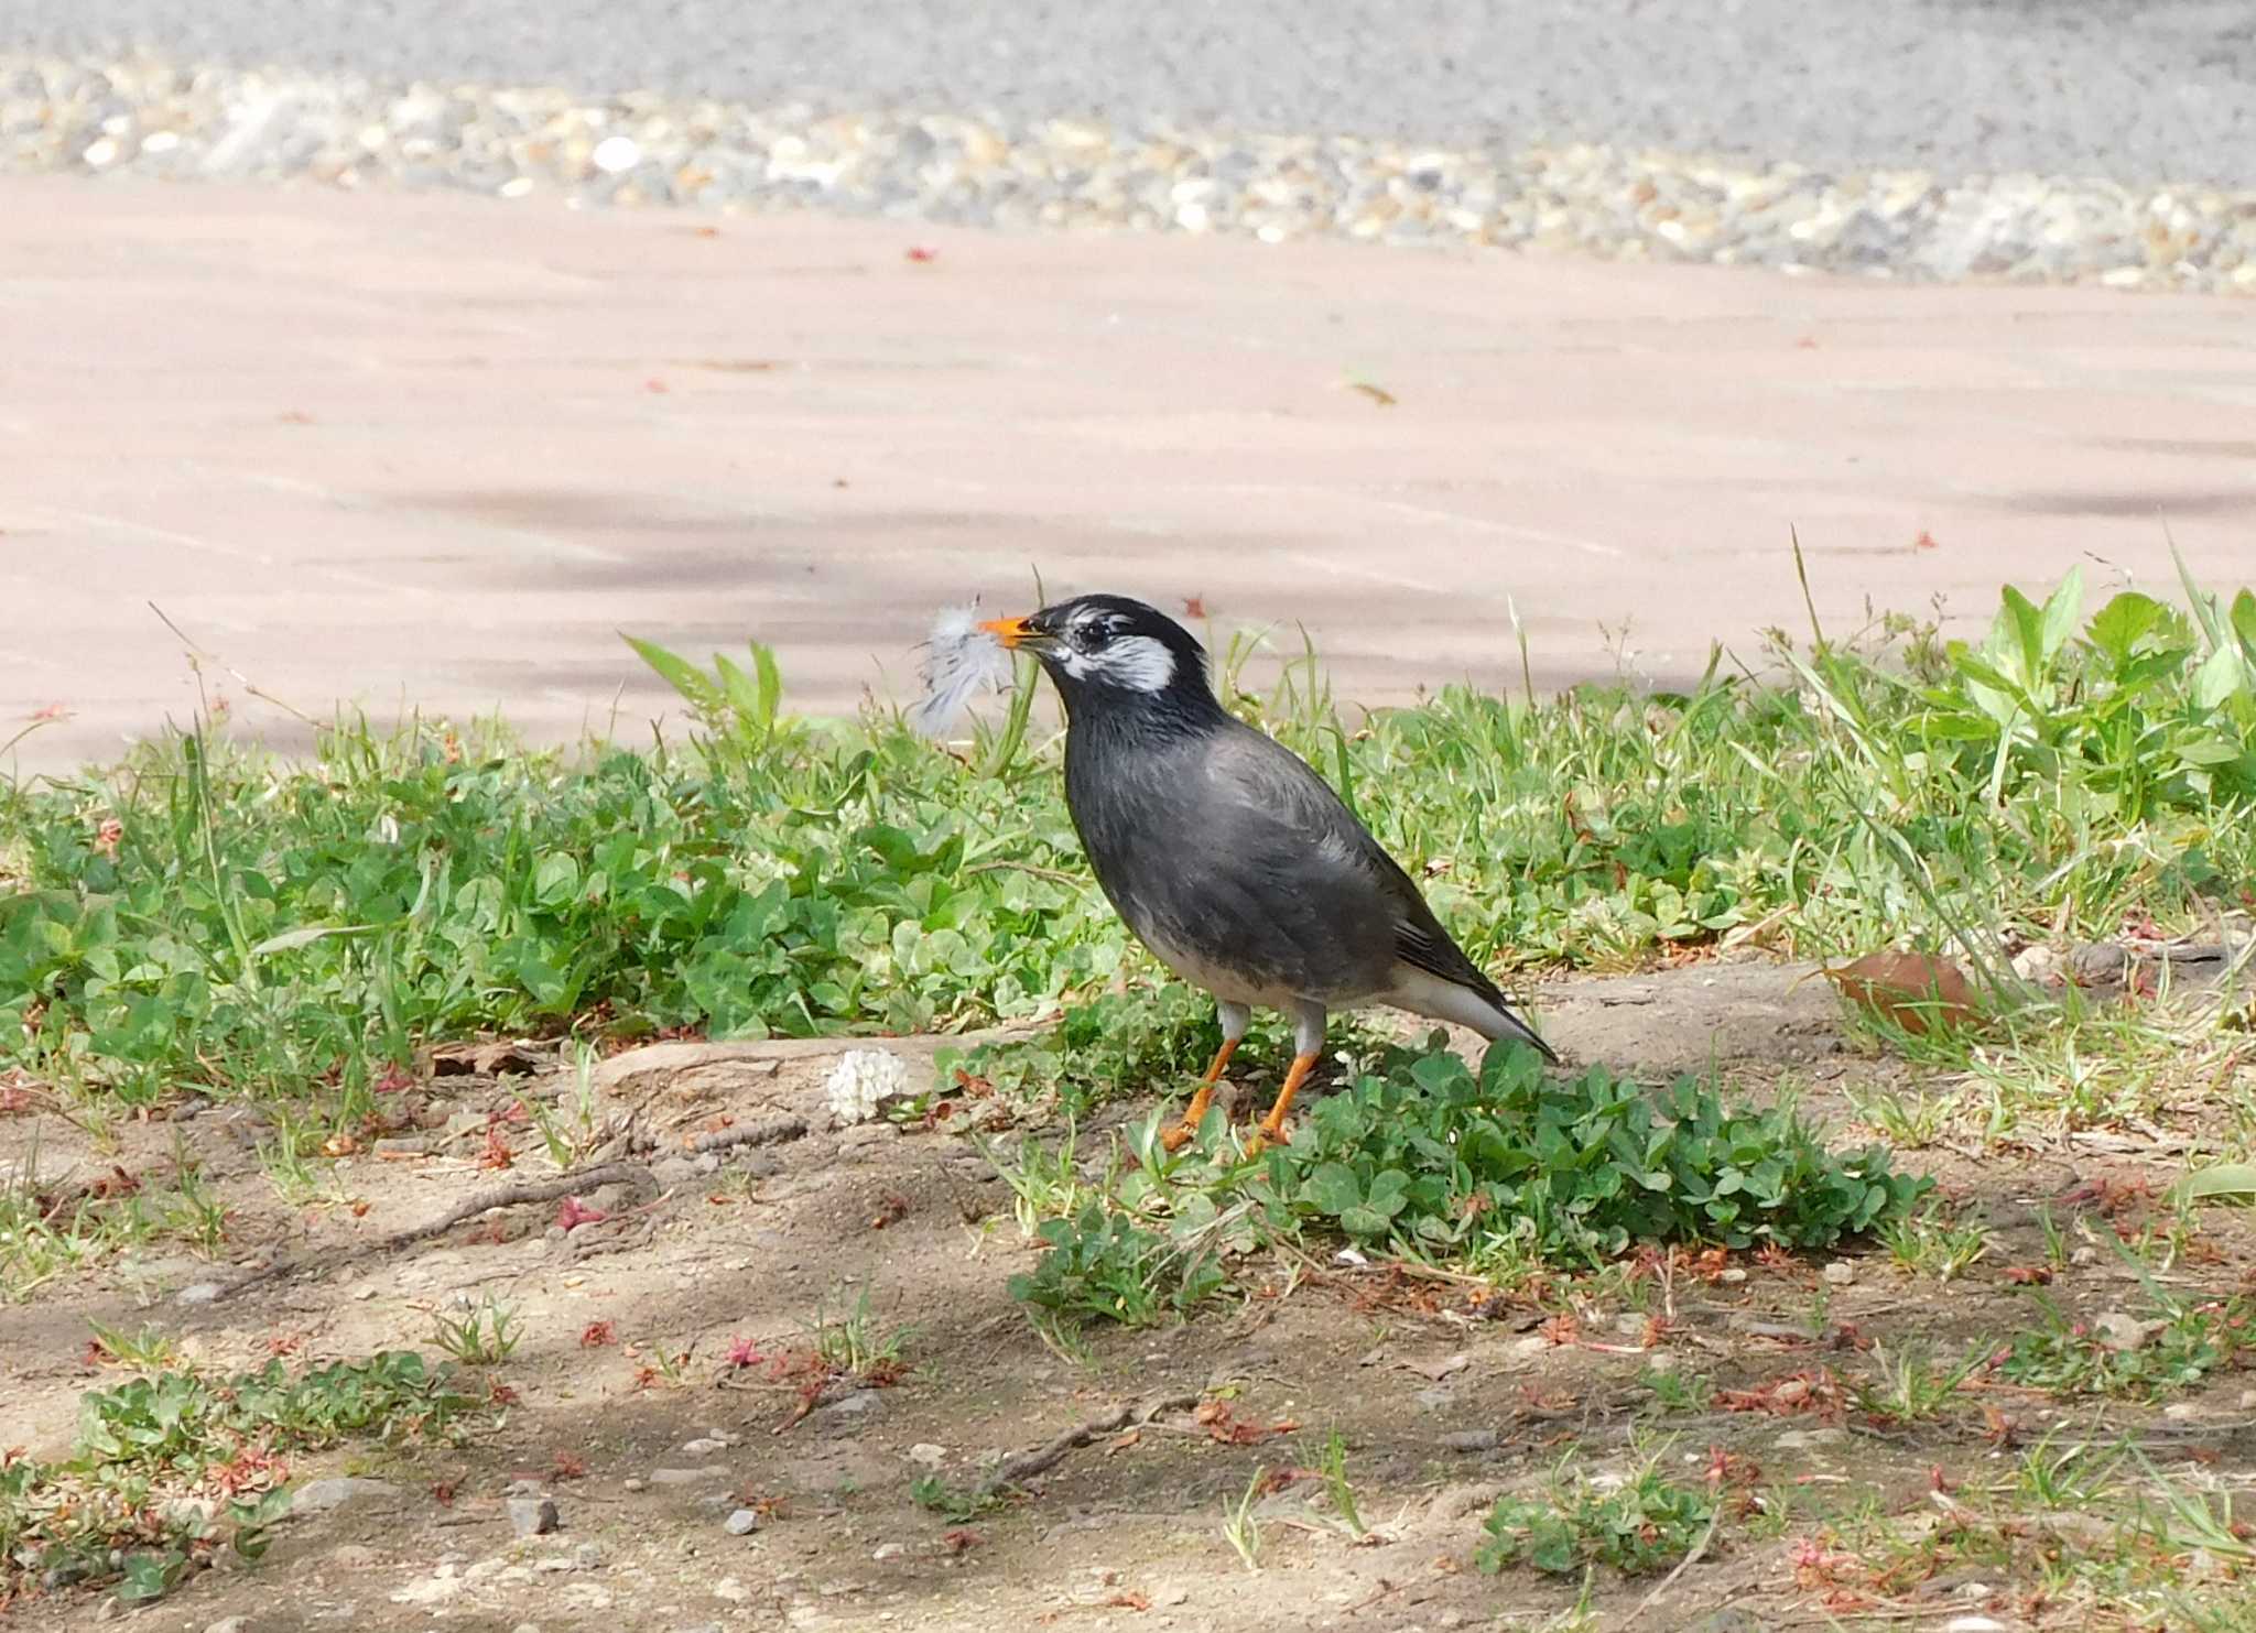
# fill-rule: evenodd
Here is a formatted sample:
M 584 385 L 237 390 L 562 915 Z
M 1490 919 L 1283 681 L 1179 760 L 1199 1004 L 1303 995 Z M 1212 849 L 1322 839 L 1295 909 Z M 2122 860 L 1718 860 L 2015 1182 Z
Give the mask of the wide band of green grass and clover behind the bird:
M 1493 968 L 1733 938 L 1994 968 L 2006 934 L 2197 929 L 2256 873 L 2256 598 L 2080 623 L 2080 595 L 2008 591 L 1981 647 L 1778 638 L 1769 679 L 1717 661 L 1685 692 L 1448 690 L 1349 722 L 1313 668 L 1223 686 Z M 884 715 L 792 722 L 754 668 L 693 697 L 690 747 L 343 722 L 305 762 L 190 733 L 0 789 L 0 1067 L 81 1103 L 363 1114 L 433 1038 L 950 1029 L 1133 961 L 1022 715 L 957 758 Z M 1202 1022 L 1169 1015 L 1114 1078 L 1200 1065 Z

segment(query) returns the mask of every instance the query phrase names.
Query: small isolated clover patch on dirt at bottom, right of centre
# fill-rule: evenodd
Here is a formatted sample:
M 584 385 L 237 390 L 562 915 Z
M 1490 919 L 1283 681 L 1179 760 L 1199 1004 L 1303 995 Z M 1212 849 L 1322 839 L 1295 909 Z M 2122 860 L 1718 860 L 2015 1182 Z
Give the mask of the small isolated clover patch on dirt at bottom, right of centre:
M 1717 1495 L 1667 1477 L 1658 1459 L 1611 1484 L 1561 1464 L 1545 1491 L 1496 1500 L 1473 1563 L 1491 1574 L 1509 1565 L 1552 1577 L 1590 1565 L 1640 1574 L 1690 1554 L 1715 1520 Z

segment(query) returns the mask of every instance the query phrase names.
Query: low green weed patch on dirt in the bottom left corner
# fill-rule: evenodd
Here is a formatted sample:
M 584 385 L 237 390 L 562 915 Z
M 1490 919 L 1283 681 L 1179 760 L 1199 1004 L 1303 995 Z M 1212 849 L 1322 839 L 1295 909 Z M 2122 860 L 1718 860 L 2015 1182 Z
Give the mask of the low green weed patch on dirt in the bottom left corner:
M 88 1392 L 68 1459 L 0 1459 L 0 1610 L 113 1579 L 126 1601 L 156 1599 L 221 1547 L 257 1559 L 289 1511 L 287 1453 L 442 1439 L 474 1405 L 408 1351 L 235 1376 L 174 1362 Z

